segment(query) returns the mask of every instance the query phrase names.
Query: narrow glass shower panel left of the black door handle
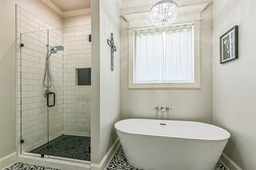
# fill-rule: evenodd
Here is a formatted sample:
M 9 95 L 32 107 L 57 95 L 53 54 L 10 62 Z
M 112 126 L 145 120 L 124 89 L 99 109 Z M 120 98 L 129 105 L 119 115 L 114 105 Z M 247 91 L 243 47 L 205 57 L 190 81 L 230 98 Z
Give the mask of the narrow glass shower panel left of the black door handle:
M 20 35 L 18 44 L 18 130 L 20 152 L 45 154 L 48 144 L 48 107 L 43 85 L 48 31 Z M 19 42 L 19 41 L 18 41 Z M 46 77 L 46 80 L 48 77 Z M 19 140 L 20 139 L 20 140 Z M 38 148 L 44 148 L 41 152 Z M 43 156 L 43 155 L 42 155 Z

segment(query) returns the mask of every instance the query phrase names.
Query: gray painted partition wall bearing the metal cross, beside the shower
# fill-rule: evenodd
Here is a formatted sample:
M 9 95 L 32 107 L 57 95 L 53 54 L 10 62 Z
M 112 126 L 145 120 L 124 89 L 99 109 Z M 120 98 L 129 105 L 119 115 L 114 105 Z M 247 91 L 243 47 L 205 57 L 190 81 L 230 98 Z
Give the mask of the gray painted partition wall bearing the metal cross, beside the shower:
M 100 164 L 117 138 L 114 123 L 120 115 L 119 6 L 113 0 L 93 0 L 92 8 L 92 154 Z M 110 12 L 111 11 L 111 12 Z M 107 39 L 113 33 L 116 52 L 111 71 Z

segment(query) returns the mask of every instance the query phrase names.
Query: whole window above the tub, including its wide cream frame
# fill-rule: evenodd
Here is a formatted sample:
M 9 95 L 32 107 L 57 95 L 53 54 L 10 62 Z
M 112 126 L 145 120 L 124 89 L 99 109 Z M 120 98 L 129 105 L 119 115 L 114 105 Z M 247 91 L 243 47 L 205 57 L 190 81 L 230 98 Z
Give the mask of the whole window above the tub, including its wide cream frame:
M 128 36 L 129 89 L 201 89 L 200 21 Z

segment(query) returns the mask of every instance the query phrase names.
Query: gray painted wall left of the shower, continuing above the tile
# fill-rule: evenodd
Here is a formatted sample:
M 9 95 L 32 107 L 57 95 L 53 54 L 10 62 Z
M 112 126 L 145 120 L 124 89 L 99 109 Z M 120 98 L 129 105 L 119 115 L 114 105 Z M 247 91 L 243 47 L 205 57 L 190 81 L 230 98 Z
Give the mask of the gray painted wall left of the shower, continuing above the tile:
M 0 1 L 0 158 L 16 151 L 16 16 L 15 4 L 34 13 L 56 28 L 62 17 L 42 1 Z M 40 9 L 40 10 L 38 10 Z

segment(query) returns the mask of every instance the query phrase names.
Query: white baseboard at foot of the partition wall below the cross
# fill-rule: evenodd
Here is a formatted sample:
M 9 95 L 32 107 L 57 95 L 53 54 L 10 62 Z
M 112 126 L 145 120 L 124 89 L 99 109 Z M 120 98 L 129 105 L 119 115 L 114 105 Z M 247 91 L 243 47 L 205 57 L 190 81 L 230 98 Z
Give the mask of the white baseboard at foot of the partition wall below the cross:
M 114 144 L 111 146 L 111 148 L 108 150 L 100 164 L 94 164 L 91 162 L 91 170 L 105 170 L 106 167 L 108 166 L 108 163 L 110 162 L 111 158 L 116 152 L 116 149 L 118 145 L 120 144 L 119 138 L 116 139 Z

